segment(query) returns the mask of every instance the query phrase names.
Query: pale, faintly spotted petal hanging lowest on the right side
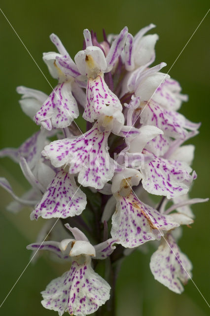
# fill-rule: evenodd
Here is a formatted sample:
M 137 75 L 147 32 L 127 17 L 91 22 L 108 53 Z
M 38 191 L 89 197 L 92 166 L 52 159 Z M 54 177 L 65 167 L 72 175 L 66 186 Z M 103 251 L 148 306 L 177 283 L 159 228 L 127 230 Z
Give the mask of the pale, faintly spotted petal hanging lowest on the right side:
M 150 269 L 156 280 L 180 294 L 183 291 L 181 282 L 185 285 L 191 277 L 192 264 L 171 234 L 165 239 L 151 256 Z

